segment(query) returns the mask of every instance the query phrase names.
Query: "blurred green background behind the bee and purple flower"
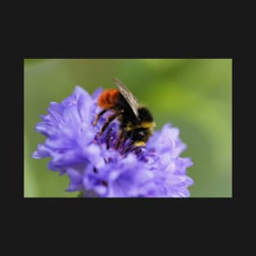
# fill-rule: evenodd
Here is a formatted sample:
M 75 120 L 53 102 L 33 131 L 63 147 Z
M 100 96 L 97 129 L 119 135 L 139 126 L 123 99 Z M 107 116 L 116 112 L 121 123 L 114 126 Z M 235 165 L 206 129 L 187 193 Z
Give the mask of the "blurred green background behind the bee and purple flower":
M 47 170 L 49 159 L 30 157 L 45 141 L 34 125 L 75 85 L 92 93 L 115 88 L 114 78 L 150 108 L 157 130 L 166 123 L 180 129 L 182 156 L 194 162 L 191 197 L 231 197 L 231 66 L 231 59 L 26 59 L 25 197 L 78 195 L 65 192 L 68 177 Z

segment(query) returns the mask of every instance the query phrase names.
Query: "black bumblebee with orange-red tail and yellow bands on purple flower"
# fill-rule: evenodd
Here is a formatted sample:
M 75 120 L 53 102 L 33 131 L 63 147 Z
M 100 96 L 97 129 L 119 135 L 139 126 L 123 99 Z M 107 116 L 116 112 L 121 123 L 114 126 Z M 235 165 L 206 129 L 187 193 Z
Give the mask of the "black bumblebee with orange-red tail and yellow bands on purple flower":
M 99 136 L 105 132 L 108 125 L 116 118 L 119 119 L 119 138 L 115 144 L 115 149 L 119 148 L 122 141 L 130 138 L 128 148 L 132 146 L 146 146 L 146 141 L 154 132 L 155 122 L 150 111 L 138 104 L 137 98 L 119 79 L 114 79 L 117 89 L 106 89 L 98 97 L 98 106 L 103 110 L 97 115 L 93 122 L 95 126 L 97 120 L 106 111 L 112 110 L 106 123 L 102 126 Z M 128 150 L 128 148 L 126 150 Z

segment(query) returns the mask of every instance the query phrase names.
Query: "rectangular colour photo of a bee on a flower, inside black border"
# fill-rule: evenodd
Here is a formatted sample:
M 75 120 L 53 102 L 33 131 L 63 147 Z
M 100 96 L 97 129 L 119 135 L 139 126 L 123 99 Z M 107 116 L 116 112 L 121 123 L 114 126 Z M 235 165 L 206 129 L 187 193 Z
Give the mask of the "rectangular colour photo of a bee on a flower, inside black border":
M 25 198 L 232 198 L 232 59 L 24 59 Z

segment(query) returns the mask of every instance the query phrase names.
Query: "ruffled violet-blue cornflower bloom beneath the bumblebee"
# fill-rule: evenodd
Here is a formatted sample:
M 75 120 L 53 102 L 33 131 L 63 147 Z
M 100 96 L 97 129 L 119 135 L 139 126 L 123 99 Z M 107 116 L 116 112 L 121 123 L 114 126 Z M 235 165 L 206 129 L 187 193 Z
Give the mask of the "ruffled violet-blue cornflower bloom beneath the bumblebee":
M 101 137 L 97 134 L 109 114 L 92 125 L 101 111 L 97 106 L 101 92 L 99 88 L 91 97 L 76 87 L 61 103 L 51 102 L 48 115 L 41 115 L 43 121 L 35 126 L 47 139 L 32 157 L 51 157 L 48 169 L 70 177 L 66 191 L 81 191 L 83 196 L 188 197 L 187 187 L 193 180 L 186 175 L 186 168 L 192 162 L 179 157 L 186 149 L 179 130 L 165 124 L 145 147 L 125 151 L 126 140 L 115 150 L 119 121 L 113 121 Z

